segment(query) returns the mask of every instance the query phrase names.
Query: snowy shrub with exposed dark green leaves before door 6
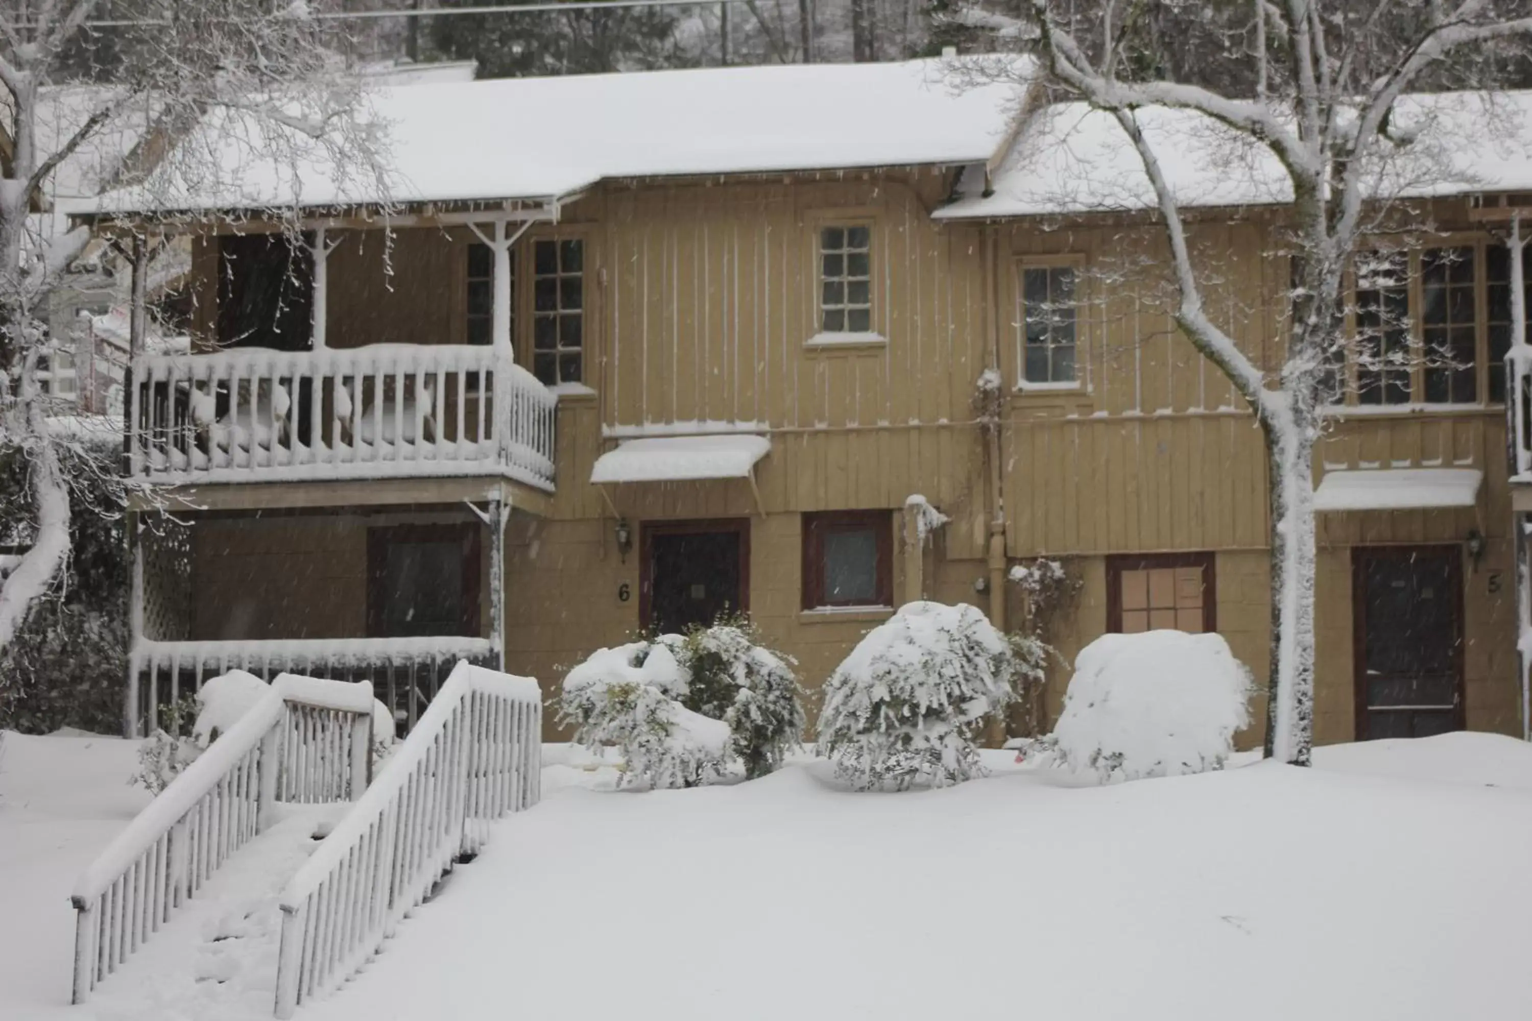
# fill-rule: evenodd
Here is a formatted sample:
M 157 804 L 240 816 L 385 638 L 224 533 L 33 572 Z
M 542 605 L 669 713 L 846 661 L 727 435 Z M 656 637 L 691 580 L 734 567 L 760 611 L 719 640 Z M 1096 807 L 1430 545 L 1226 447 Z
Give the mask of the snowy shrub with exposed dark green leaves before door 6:
M 791 664 L 740 621 L 601 649 L 564 678 L 559 719 L 579 744 L 617 745 L 627 782 L 692 787 L 735 764 L 764 776 L 803 735 Z

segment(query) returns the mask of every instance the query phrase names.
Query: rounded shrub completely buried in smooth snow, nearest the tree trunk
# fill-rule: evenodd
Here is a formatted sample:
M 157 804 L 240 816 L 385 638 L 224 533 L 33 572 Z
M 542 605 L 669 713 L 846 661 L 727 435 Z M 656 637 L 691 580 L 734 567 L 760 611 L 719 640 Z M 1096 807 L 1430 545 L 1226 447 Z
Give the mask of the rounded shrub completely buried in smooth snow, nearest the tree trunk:
M 1074 661 L 1054 761 L 1102 779 L 1221 768 L 1250 721 L 1250 670 L 1223 635 L 1102 635 Z

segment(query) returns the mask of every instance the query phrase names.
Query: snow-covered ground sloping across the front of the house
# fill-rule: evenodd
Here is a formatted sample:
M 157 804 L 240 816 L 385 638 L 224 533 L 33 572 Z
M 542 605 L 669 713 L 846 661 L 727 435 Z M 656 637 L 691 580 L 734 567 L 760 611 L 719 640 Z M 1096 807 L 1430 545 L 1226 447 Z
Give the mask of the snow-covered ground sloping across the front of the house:
M 144 997 L 153 943 L 61 1006 L 69 886 L 144 796 L 127 742 L 5 744 L 0 1016 L 213 1016 Z M 616 793 L 550 747 L 545 801 L 299 1016 L 1524 1016 L 1532 747 L 1448 735 L 1108 787 L 988 761 L 904 794 L 806 759 Z M 244 964 L 201 1001 L 219 1018 L 270 1016 Z

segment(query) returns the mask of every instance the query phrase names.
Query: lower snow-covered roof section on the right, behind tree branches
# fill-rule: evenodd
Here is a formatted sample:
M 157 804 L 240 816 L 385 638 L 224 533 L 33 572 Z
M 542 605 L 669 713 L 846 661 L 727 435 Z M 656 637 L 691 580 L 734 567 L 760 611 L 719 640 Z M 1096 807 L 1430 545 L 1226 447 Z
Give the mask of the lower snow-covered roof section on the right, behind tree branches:
M 1183 207 L 1272 205 L 1291 201 L 1276 156 L 1195 110 L 1137 112 Z M 1532 188 L 1532 92 L 1448 92 L 1403 96 L 1393 118 L 1417 133 L 1400 155 L 1371 168 L 1374 197 L 1426 197 Z M 1155 205 L 1138 152 L 1112 113 L 1085 103 L 1037 109 L 988 182 L 980 167 L 938 219 L 1137 211 Z

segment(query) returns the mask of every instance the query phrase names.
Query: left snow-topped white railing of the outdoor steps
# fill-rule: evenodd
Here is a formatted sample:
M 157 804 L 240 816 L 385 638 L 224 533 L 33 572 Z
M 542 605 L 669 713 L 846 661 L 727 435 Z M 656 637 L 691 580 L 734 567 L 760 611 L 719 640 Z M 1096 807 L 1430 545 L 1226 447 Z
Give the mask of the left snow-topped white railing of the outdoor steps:
M 274 802 L 360 798 L 371 747 L 371 684 L 273 681 L 80 876 L 74 1003 L 270 825 Z

